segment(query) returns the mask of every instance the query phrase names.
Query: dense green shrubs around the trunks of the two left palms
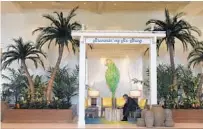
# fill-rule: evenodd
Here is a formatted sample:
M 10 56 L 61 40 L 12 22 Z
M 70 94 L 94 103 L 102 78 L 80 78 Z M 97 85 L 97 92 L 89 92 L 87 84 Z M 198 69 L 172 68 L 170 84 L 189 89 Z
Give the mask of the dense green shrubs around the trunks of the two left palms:
M 28 80 L 22 70 L 8 68 L 8 71 L 10 73 L 8 76 L 2 74 L 2 78 L 8 82 L 2 84 L 1 99 L 10 102 L 14 98 L 15 104 L 20 104 L 21 109 L 69 109 L 71 97 L 78 94 L 78 66 L 71 73 L 67 67 L 57 72 L 53 90 L 55 97 L 49 104 L 45 99 L 46 82 L 43 81 L 43 76 L 32 77 L 35 85 L 35 100 L 31 102 Z

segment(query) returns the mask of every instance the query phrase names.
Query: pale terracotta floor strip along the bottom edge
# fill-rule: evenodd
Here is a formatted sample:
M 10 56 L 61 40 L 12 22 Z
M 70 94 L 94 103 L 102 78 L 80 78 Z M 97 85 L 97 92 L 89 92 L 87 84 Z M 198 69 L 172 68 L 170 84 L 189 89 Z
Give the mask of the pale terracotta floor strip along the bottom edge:
M 77 129 L 77 124 L 59 124 L 59 123 L 35 123 L 35 124 L 20 124 L 20 123 L 1 123 L 2 129 Z M 95 128 L 122 128 L 122 129 L 134 129 L 140 128 L 135 125 L 86 125 L 87 129 Z M 164 127 L 154 128 L 154 129 L 163 129 Z M 166 128 L 166 127 L 165 127 Z M 174 128 L 166 129 L 203 129 L 203 123 L 177 123 Z

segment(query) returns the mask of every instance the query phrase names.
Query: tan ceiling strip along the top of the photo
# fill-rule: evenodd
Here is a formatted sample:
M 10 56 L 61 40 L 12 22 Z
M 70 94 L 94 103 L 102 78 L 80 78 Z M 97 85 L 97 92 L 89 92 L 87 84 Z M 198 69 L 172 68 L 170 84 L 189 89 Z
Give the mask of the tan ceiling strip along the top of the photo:
M 203 2 L 115 2 L 115 1 L 2 1 L 1 12 L 16 12 L 16 10 L 27 11 L 34 9 L 72 9 L 79 6 L 80 9 L 95 13 L 116 12 L 116 11 L 159 11 L 168 8 L 171 12 L 186 10 L 195 14 L 203 14 Z M 17 9 L 14 9 L 17 8 Z M 198 8 L 198 9 L 197 9 Z M 185 11 L 184 10 L 184 11 Z M 197 12 L 198 11 L 198 12 Z M 194 13 L 193 13 L 194 14 Z

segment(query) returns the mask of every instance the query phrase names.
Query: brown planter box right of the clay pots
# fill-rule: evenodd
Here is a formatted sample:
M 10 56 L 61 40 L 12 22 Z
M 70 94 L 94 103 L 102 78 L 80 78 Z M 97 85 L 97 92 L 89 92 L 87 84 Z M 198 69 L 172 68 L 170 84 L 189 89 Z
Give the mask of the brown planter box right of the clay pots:
M 203 109 L 173 109 L 175 123 L 203 123 Z

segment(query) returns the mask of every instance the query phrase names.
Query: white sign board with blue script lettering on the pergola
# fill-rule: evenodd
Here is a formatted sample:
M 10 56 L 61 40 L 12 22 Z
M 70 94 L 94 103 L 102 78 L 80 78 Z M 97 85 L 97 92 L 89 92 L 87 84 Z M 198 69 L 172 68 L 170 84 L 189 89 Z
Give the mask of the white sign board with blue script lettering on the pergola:
M 150 38 L 85 38 L 90 44 L 150 44 Z

